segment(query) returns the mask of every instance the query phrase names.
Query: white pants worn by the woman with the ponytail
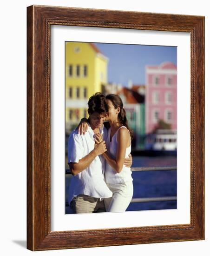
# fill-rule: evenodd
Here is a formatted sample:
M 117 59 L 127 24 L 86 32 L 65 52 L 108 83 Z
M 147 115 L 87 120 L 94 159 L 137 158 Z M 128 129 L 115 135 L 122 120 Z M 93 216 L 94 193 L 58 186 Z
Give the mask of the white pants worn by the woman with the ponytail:
M 133 196 L 133 182 L 106 184 L 113 193 L 112 197 L 104 198 L 106 211 L 125 212 Z

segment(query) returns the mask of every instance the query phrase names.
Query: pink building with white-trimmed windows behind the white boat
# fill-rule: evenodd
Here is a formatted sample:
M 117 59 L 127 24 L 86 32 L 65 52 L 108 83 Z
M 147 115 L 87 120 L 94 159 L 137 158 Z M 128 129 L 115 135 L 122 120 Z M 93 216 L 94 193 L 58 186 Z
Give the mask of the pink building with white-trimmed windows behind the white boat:
M 145 128 L 149 134 L 164 120 L 177 129 L 177 67 L 171 62 L 146 66 Z

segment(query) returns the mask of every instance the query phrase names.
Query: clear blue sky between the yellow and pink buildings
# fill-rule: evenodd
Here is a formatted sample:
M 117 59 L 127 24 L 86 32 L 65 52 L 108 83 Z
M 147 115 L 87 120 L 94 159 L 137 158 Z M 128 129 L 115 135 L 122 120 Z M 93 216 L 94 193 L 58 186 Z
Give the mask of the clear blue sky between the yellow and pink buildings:
M 108 82 L 145 84 L 145 66 L 171 61 L 177 66 L 177 47 L 95 43 L 108 57 Z

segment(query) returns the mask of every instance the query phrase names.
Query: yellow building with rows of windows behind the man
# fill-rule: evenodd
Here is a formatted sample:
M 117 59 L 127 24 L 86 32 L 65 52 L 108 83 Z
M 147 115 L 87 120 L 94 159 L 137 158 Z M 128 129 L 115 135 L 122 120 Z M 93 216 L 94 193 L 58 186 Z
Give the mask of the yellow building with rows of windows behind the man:
M 107 84 L 108 59 L 93 43 L 66 42 L 66 131 L 87 117 L 87 102 Z

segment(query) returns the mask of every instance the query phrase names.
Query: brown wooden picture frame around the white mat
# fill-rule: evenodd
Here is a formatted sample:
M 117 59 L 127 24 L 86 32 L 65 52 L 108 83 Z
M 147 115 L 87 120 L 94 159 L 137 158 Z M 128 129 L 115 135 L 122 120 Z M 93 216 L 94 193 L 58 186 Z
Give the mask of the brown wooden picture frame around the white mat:
M 190 33 L 190 224 L 51 231 L 51 25 Z M 27 7 L 27 249 L 70 249 L 203 239 L 204 17 L 70 7 Z

